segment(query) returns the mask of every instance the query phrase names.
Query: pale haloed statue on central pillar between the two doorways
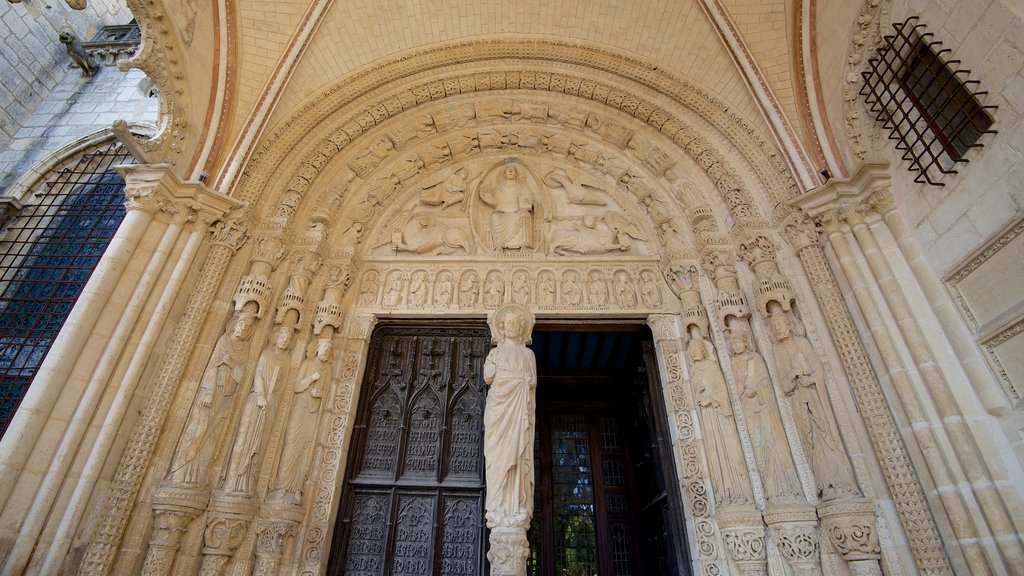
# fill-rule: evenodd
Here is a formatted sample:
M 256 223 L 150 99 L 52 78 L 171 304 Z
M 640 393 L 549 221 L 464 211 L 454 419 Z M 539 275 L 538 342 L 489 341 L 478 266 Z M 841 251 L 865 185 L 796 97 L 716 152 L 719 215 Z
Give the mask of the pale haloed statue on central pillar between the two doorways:
M 534 316 L 507 304 L 489 323 L 498 346 L 483 364 L 483 380 L 489 386 L 483 410 L 487 558 L 492 576 L 523 576 L 529 556 L 526 529 L 534 516 L 537 360 L 526 347 Z

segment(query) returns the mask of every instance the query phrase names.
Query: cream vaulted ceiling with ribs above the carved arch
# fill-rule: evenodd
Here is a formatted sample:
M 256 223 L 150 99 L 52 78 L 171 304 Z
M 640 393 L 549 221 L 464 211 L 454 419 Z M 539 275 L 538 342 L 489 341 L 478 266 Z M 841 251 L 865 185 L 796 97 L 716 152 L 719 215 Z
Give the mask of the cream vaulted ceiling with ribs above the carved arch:
M 835 2 L 824 2 L 824 4 Z M 706 90 L 790 162 L 823 165 L 811 126 L 814 0 L 132 0 L 148 65 L 170 86 L 175 164 L 213 176 L 304 102 L 403 55 L 459 42 L 536 38 L 625 55 Z M 846 4 L 842 44 L 857 7 Z M 859 3 L 852 3 L 859 4 Z M 829 10 L 842 6 L 829 7 Z M 169 17 L 168 17 L 169 16 Z M 808 38 L 810 32 L 811 38 Z M 835 42 L 835 39 L 830 39 Z M 140 59 L 145 60 L 143 55 Z M 151 58 L 152 59 L 152 58 Z M 834 60 L 837 58 L 833 58 Z M 143 69 L 146 68 L 143 61 Z M 556 65 L 557 66 L 557 65 Z M 566 65 L 568 66 L 568 65 Z M 836 77 L 834 68 L 826 74 Z M 812 90 L 813 91 L 813 90 Z M 816 102 L 815 102 L 816 106 Z M 167 146 L 166 142 L 161 142 Z M 243 151 L 240 154 L 240 151 Z M 797 160 L 794 160 L 797 159 Z M 224 182 L 228 187 L 230 182 Z

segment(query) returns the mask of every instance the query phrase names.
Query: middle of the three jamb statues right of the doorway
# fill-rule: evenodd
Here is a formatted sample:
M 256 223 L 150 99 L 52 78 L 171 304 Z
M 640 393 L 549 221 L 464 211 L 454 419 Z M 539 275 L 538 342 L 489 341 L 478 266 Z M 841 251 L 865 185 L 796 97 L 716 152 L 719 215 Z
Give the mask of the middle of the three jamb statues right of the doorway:
M 732 372 L 746 416 L 754 459 L 764 481 L 765 496 L 769 503 L 799 501 L 802 498 L 800 481 L 790 457 L 768 366 L 754 351 L 746 328 L 733 328 L 729 332 L 729 347 L 732 349 Z

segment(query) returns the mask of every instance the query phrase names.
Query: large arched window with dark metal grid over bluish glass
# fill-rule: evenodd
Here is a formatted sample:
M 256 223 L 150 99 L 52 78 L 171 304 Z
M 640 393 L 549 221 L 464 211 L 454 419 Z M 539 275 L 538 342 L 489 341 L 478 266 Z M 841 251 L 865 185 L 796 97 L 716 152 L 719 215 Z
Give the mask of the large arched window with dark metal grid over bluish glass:
M 0 435 L 124 219 L 134 159 L 105 145 L 54 171 L 0 232 Z

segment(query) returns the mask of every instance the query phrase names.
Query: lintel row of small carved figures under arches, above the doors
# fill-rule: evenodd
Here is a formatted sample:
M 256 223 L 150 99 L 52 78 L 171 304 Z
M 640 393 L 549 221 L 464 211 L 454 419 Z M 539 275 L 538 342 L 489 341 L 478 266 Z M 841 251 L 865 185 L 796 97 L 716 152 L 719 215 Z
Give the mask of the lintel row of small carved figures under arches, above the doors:
M 382 283 L 381 280 L 384 280 Z M 542 270 L 511 274 L 466 271 L 456 283 L 451 271 L 370 270 L 359 283 L 360 305 L 384 307 L 495 307 L 506 302 L 540 306 L 649 307 L 662 305 L 660 276 L 654 269 Z

